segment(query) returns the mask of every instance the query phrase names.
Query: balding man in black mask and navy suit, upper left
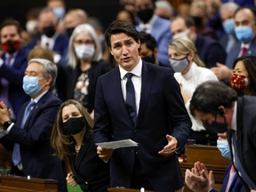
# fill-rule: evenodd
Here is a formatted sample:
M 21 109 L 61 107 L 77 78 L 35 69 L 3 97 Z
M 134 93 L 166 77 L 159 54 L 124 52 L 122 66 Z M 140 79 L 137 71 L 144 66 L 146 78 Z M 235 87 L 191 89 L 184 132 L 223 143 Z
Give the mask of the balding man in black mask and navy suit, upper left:
M 68 48 L 68 36 L 57 31 L 58 20 L 52 8 L 44 8 L 37 20 L 37 27 L 40 35 L 36 36 L 28 49 L 33 49 L 35 45 L 41 45 L 54 52 L 54 62 L 60 65 L 67 65 L 68 60 L 61 60 L 65 57 L 65 50 Z

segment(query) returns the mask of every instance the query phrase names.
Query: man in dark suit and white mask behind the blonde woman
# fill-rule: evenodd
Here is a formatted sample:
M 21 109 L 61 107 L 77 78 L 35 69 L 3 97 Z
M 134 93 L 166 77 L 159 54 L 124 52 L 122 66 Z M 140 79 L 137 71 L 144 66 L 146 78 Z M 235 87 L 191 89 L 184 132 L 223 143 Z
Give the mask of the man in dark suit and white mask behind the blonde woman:
M 171 31 L 174 38 L 187 37 L 196 45 L 199 58 L 204 61 L 206 68 L 212 68 L 218 62 L 224 63 L 226 60 L 225 49 L 221 44 L 206 36 L 196 33 L 195 21 L 188 16 L 178 16 L 172 20 Z

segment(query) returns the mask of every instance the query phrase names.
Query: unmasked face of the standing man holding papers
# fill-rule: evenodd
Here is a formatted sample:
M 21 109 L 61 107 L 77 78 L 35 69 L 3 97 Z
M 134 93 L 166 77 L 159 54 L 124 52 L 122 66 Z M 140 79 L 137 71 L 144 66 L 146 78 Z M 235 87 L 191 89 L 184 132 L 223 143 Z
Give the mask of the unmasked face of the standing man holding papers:
M 124 33 L 110 37 L 110 52 L 116 62 L 126 71 L 131 71 L 140 61 L 140 41 L 136 42 L 131 36 Z

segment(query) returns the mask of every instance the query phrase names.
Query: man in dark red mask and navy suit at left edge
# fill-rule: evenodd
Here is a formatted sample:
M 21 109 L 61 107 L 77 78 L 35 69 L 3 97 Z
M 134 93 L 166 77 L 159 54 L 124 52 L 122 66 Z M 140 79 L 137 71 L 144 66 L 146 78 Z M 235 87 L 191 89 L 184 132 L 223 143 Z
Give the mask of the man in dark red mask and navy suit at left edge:
M 29 100 L 22 89 L 28 51 L 20 45 L 20 33 L 17 20 L 4 20 L 0 26 L 0 41 L 4 51 L 0 59 L 0 101 L 11 108 L 12 120 L 18 116 L 21 105 Z

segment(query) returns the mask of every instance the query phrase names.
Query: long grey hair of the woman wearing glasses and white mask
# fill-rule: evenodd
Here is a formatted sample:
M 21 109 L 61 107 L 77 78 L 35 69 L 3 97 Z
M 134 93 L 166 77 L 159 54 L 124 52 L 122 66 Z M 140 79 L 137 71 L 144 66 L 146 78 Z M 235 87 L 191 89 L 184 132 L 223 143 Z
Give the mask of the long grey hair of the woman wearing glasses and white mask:
M 71 66 L 72 68 L 76 68 L 76 65 L 78 63 L 78 58 L 75 52 L 74 41 L 76 36 L 78 36 L 82 32 L 85 32 L 87 35 L 91 36 L 95 44 L 95 53 L 92 57 L 92 60 L 98 61 L 102 59 L 101 44 L 95 29 L 92 28 L 92 25 L 90 24 L 78 25 L 74 29 L 72 35 L 70 36 L 69 44 L 68 44 L 68 65 Z

